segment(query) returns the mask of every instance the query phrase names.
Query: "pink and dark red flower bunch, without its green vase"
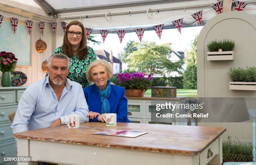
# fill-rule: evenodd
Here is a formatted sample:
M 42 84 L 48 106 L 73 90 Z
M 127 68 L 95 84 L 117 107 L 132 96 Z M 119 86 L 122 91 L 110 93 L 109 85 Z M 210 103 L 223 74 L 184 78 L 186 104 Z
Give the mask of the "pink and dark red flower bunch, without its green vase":
M 15 58 L 15 54 L 11 52 L 0 52 L 0 70 L 4 71 L 14 71 L 18 59 Z

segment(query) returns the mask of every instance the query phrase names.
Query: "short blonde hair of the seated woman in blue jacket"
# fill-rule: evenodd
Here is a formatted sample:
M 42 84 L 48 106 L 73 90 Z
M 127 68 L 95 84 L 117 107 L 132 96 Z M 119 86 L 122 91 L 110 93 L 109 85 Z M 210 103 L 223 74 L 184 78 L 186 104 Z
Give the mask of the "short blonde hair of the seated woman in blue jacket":
M 86 77 L 88 82 L 92 82 L 92 68 L 98 65 L 102 65 L 105 67 L 105 70 L 108 74 L 108 79 L 110 79 L 113 76 L 113 71 L 112 71 L 112 67 L 110 66 L 110 63 L 108 63 L 106 60 L 94 60 L 92 61 L 86 71 Z

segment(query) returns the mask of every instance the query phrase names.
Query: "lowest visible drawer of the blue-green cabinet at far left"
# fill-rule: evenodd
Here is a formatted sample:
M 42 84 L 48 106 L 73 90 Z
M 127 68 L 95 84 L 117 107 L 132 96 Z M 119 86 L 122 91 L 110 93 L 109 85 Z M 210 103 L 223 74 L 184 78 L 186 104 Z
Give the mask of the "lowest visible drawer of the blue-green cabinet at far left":
M 0 164 L 4 162 L 4 157 L 17 157 L 15 140 L 0 144 Z

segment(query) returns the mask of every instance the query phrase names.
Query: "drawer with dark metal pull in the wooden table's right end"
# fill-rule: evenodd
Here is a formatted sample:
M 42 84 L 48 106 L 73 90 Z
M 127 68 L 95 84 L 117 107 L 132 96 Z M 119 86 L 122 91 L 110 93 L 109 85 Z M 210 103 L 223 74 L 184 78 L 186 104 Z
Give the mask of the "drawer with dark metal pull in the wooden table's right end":
M 206 165 L 215 155 L 219 154 L 219 138 L 210 144 L 200 154 L 200 165 Z

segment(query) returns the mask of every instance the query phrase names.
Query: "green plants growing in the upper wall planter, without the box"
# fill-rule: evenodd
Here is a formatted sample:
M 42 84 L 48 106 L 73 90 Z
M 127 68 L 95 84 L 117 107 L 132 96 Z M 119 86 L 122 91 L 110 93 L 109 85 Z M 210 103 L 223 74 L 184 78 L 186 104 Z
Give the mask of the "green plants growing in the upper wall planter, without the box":
M 207 44 L 207 48 L 209 51 L 219 51 L 219 49 L 222 49 L 222 51 L 233 51 L 235 47 L 235 42 L 232 40 L 223 40 L 223 41 L 211 41 Z

